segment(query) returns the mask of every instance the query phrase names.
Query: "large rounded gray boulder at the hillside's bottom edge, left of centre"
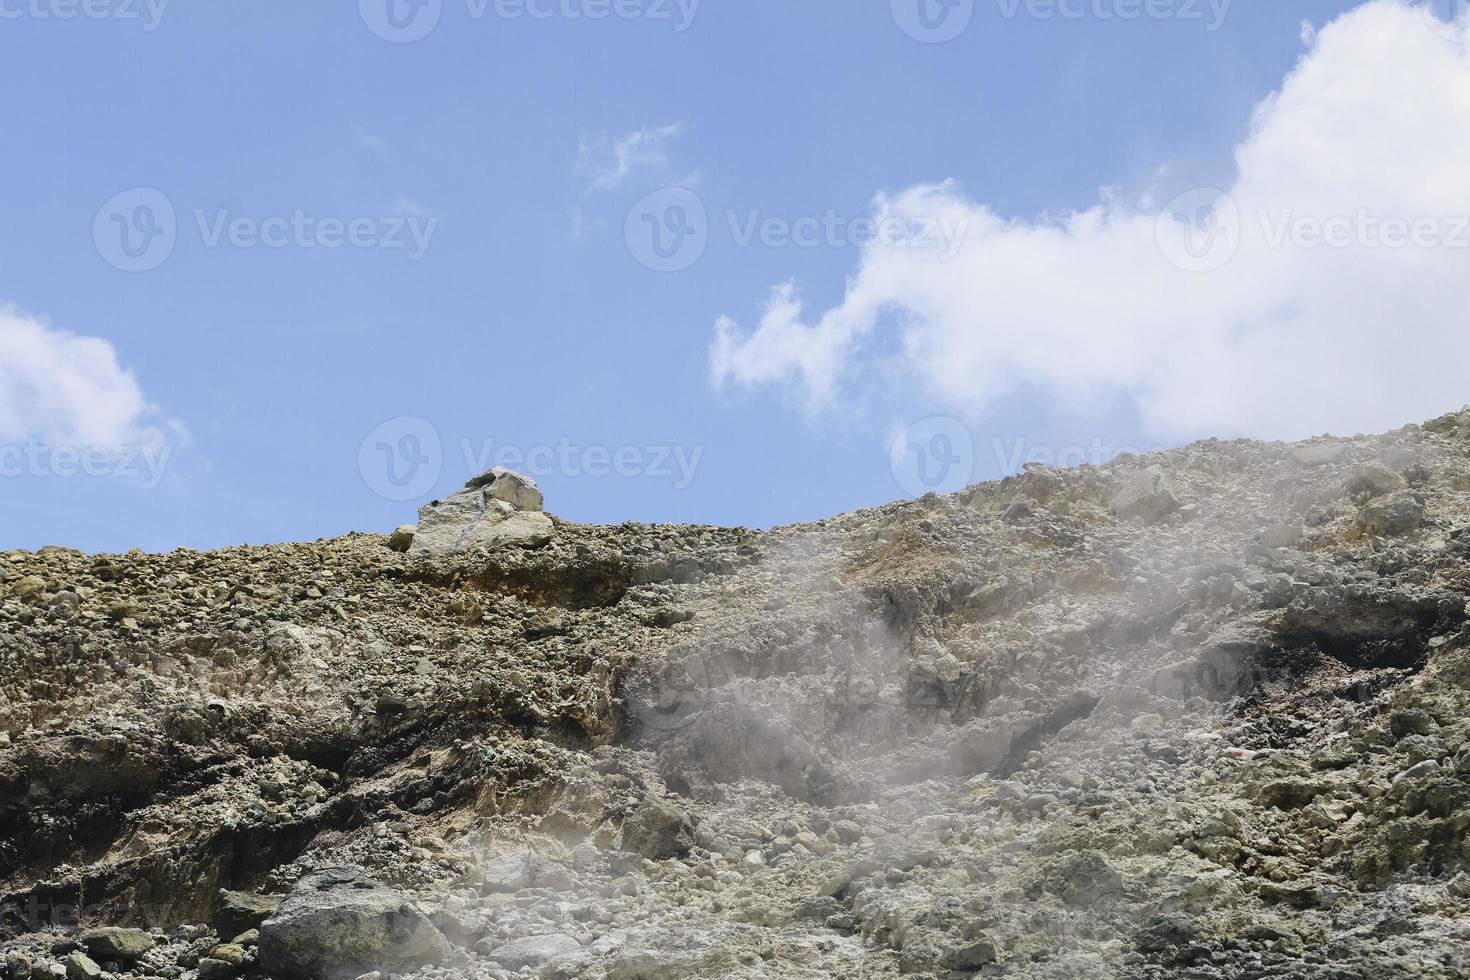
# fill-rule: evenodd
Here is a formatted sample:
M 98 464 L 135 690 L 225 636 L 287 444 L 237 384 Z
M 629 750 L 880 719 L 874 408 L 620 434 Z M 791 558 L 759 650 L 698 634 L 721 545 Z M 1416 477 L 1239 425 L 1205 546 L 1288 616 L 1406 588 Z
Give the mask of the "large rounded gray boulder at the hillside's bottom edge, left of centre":
M 407 899 L 360 868 L 310 874 L 260 926 L 260 967 L 309 980 L 441 962 L 450 942 Z

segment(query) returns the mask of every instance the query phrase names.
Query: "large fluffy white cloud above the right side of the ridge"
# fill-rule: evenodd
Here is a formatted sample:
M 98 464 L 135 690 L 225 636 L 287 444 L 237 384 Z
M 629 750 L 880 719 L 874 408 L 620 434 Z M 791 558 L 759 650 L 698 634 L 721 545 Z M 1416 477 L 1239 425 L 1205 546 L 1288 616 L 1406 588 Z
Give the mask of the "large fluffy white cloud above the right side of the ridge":
M 1407 0 L 1317 32 L 1222 192 L 1007 220 L 953 184 L 875 201 L 842 301 L 716 325 L 716 383 L 814 408 L 892 379 L 979 416 L 1129 398 L 1160 435 L 1373 430 L 1470 401 L 1470 40 Z M 1177 191 L 1182 188 L 1172 188 Z M 1173 197 L 1173 194 L 1169 194 Z M 963 229 L 957 250 L 936 229 Z M 866 381 L 864 381 L 866 379 Z

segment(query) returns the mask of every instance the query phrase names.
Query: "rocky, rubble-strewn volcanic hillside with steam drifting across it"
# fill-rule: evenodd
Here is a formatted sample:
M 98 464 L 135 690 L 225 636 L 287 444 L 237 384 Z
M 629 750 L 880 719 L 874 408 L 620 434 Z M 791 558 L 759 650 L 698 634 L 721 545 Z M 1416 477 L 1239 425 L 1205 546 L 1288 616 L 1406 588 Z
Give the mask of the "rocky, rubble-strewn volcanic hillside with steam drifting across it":
M 772 532 L 0 555 L 0 973 L 1470 976 L 1470 410 Z

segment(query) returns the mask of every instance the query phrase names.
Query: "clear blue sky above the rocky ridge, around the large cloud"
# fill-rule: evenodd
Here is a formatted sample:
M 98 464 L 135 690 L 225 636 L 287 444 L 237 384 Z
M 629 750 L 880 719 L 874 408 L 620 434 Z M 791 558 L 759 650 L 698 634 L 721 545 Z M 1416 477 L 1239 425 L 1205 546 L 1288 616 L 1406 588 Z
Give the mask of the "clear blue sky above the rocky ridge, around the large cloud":
M 1355 6 L 1160 0 L 1123 19 L 1129 0 L 976 0 L 928 43 L 903 29 L 910 0 L 622 0 L 607 18 L 598 0 L 392 0 L 428 31 L 401 41 L 378 35 L 387 1 L 68 18 L 79 0 L 0 0 L 0 548 L 391 529 L 507 448 L 567 519 L 769 526 L 941 469 L 994 478 L 1017 448 L 1208 432 L 1216 416 L 1161 426 L 1086 378 L 1083 398 L 1025 369 L 957 394 L 910 364 L 939 334 L 876 319 L 825 391 L 804 356 L 747 341 L 785 284 L 808 314 L 773 344 L 850 306 L 879 194 L 953 181 L 933 213 L 1005 225 L 1235 187 L 1252 113 L 1313 44 L 1304 22 Z M 698 220 L 648 198 L 667 187 L 704 225 L 697 260 L 660 272 L 639 209 L 667 234 Z M 160 220 L 172 244 L 150 254 Z M 119 267 L 125 231 L 150 267 Z M 711 370 L 722 317 L 734 347 Z M 942 458 L 895 467 L 895 438 Z M 59 447 L 101 450 L 96 473 Z

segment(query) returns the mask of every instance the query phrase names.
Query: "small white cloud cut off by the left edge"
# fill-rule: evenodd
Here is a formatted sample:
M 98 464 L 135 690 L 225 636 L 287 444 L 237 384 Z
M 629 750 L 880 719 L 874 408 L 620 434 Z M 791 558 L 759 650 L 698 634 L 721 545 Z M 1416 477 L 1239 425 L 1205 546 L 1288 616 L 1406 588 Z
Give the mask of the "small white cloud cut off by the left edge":
M 141 448 L 181 435 L 112 344 L 0 307 L 0 442 Z

